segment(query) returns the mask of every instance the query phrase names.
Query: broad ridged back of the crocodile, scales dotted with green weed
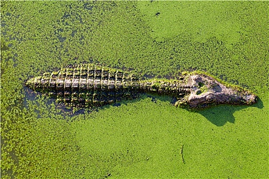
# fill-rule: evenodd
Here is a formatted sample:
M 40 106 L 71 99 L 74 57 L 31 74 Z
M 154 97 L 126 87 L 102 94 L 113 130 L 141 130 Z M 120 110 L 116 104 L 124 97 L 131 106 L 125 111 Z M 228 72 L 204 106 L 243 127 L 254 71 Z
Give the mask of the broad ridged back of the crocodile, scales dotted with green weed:
M 28 81 L 28 86 L 57 102 L 81 107 L 137 98 L 139 85 L 138 77 L 132 73 L 94 64 L 68 66 Z

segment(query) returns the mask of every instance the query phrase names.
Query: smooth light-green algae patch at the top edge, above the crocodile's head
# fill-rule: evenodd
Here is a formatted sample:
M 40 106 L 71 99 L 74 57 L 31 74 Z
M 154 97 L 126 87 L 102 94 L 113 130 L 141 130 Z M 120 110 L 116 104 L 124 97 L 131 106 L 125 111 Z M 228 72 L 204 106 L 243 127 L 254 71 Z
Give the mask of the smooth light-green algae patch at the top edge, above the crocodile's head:
M 205 42 L 214 34 L 227 46 L 240 41 L 243 29 L 231 2 L 149 2 L 138 4 L 152 28 L 152 37 L 159 41 L 178 34 L 193 34 L 197 41 Z

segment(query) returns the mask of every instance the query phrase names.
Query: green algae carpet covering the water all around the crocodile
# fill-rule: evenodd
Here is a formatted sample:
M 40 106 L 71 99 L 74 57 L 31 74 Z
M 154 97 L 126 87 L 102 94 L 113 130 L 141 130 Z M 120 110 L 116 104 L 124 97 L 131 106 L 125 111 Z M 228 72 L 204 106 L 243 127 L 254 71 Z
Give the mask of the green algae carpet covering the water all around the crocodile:
M 267 2 L 1 2 L 1 176 L 266 178 L 267 8 Z M 69 117 L 46 98 L 24 101 L 28 77 L 81 62 L 142 76 L 206 71 L 251 89 L 259 102 L 193 112 L 144 96 Z

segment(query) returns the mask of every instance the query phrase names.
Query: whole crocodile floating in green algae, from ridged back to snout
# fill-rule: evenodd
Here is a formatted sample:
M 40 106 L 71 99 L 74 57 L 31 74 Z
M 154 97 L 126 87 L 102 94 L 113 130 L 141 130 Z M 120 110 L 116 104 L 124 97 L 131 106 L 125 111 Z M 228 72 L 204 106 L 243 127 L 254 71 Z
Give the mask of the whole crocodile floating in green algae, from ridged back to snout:
M 97 107 L 136 99 L 142 93 L 176 99 L 175 106 L 205 108 L 218 104 L 251 105 L 258 97 L 202 72 L 185 72 L 177 79 L 141 79 L 138 75 L 98 64 L 69 65 L 59 71 L 30 78 L 34 91 L 77 107 Z

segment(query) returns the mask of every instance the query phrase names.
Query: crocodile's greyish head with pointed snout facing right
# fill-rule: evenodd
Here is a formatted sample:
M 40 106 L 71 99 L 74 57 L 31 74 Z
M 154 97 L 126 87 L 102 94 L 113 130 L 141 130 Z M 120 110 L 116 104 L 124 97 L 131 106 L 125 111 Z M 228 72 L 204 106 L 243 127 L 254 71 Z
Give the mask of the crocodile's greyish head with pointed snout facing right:
M 205 74 L 189 76 L 191 93 L 183 103 L 191 108 L 204 108 L 217 104 L 251 105 L 258 101 L 256 95 L 239 86 L 225 85 Z

